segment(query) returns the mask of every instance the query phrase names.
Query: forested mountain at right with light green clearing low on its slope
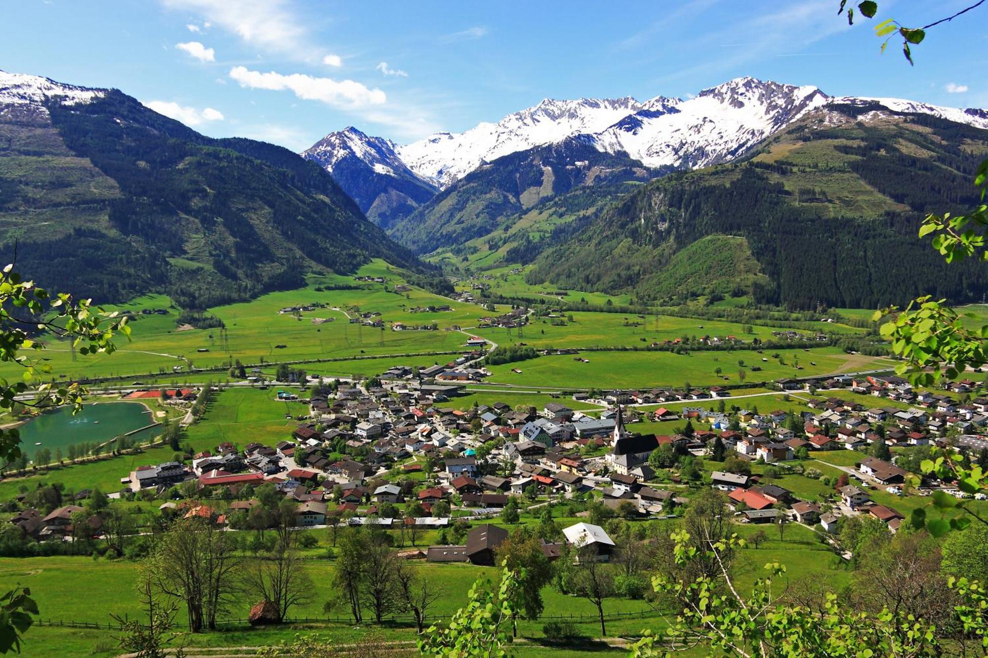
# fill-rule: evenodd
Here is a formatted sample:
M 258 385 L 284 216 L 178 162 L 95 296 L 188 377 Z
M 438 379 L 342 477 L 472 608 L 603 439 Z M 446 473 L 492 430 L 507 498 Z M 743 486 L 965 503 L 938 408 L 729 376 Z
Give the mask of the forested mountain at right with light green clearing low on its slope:
M 988 272 L 947 266 L 917 228 L 928 211 L 976 202 L 986 153 L 988 130 L 877 103 L 829 105 L 745 162 L 641 186 L 542 253 L 529 278 L 661 303 L 726 288 L 800 308 L 979 299 Z

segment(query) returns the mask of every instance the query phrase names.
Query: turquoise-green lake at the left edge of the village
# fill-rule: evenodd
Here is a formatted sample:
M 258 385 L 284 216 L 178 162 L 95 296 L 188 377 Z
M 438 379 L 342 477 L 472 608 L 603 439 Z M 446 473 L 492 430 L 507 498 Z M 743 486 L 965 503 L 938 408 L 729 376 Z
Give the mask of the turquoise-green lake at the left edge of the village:
M 39 448 L 53 452 L 72 444 L 103 443 L 153 422 L 147 407 L 137 402 L 96 402 L 87 404 L 74 416 L 70 407 L 61 407 L 22 425 L 21 446 L 30 454 Z M 133 438 L 144 441 L 148 434 L 141 432 Z

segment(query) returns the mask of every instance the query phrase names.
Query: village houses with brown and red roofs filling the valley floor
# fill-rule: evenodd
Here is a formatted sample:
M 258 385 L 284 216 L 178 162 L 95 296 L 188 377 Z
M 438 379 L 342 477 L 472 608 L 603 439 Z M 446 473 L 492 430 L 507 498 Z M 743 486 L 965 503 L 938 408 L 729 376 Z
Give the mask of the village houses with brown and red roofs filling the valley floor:
M 161 495 L 194 482 L 199 490 L 228 488 L 237 498 L 245 487 L 271 483 L 295 502 L 296 524 L 303 527 L 323 526 L 331 516 L 343 515 L 352 525 L 438 529 L 451 525 L 452 510 L 483 523 L 513 496 L 551 499 L 588 491 L 596 492 L 606 507 L 621 516 L 667 515 L 677 504 L 689 501 L 649 485 L 656 475 L 649 457 L 663 446 L 679 454 L 703 454 L 719 440 L 725 450 L 742 459 L 773 463 L 792 459 L 803 449 L 855 449 L 876 441 L 922 446 L 942 440 L 951 426 L 975 431 L 988 420 L 988 398 L 959 404 L 946 395 L 916 393 L 898 377 L 834 377 L 833 387 L 864 389 L 890 399 L 912 395 L 909 402 L 914 406 L 867 407 L 840 397 L 814 397 L 807 402 L 810 411 L 796 419 L 782 411 L 660 407 L 648 412 L 656 421 L 691 420 L 710 429 L 697 429 L 690 436 L 634 434 L 625 422 L 633 421 L 637 413 L 625 411 L 624 405 L 711 400 L 728 397 L 729 392 L 716 386 L 679 392 L 614 391 L 595 400 L 609 405 L 599 416 L 574 410 L 561 399 L 541 409 L 504 402 L 468 409 L 445 406 L 460 385 L 445 381 L 443 375 L 466 370 L 469 357 L 419 370 L 395 367 L 379 385 L 323 387 L 307 399 L 308 418 L 274 446 L 224 443 L 186 463 L 139 466 L 121 480 L 122 487 Z M 587 398 L 587 394 L 574 395 L 581 396 Z M 972 448 L 979 441 L 988 447 L 978 434 L 972 432 L 961 440 L 968 440 Z M 478 460 L 481 452 L 485 458 Z M 867 514 L 896 530 L 902 515 L 872 502 L 868 488 L 901 484 L 905 471 L 867 457 L 856 464 L 855 472 L 860 482 L 843 487 L 839 504 L 826 513 L 816 503 L 800 501 L 757 476 L 714 472 L 711 485 L 727 492 L 738 515 L 749 523 L 771 523 L 785 514 L 832 532 L 840 516 Z M 249 512 L 256 504 L 232 502 L 216 521 L 224 523 L 233 513 Z M 395 514 L 387 507 L 400 504 L 414 504 L 421 513 Z M 165 506 L 187 515 L 212 514 L 205 505 L 180 507 L 168 502 Z M 73 513 L 81 509 L 67 506 L 48 515 L 26 511 L 12 523 L 37 538 L 62 537 L 70 532 Z M 97 529 L 99 520 L 90 523 Z M 570 544 L 597 544 L 603 556 L 610 554 L 608 546 L 614 546 L 602 529 L 590 524 L 565 529 L 564 535 Z M 505 537 L 497 527 L 475 525 L 463 544 L 433 546 L 422 556 L 488 564 Z M 543 542 L 550 558 L 562 549 L 562 544 Z

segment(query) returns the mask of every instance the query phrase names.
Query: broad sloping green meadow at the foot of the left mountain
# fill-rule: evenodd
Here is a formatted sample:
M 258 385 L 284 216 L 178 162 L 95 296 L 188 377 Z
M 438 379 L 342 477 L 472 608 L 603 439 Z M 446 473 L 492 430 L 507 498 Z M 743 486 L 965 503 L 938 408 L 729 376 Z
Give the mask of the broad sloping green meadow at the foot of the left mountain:
M 113 355 L 84 357 L 73 355 L 68 343 L 49 340 L 44 357 L 53 374 L 67 378 L 129 375 L 160 372 L 170 375 L 173 367 L 206 368 L 239 359 L 241 362 L 291 361 L 339 358 L 360 355 L 393 355 L 463 349 L 463 334 L 450 330 L 453 325 L 469 326 L 487 314 L 480 306 L 463 304 L 424 290 L 410 288 L 394 292 L 404 280 L 386 264 L 375 261 L 360 275 L 384 277 L 384 284 L 365 284 L 343 277 L 311 278 L 306 288 L 271 292 L 252 301 L 210 309 L 223 321 L 225 330 L 179 330 L 180 310 L 162 295 L 146 295 L 107 310 L 136 313 L 132 340 L 117 341 Z M 359 289 L 316 290 L 325 285 L 360 286 Z M 279 314 L 279 309 L 304 303 L 323 303 L 324 308 L 299 317 Z M 414 307 L 449 305 L 450 311 L 411 312 Z M 391 331 L 351 324 L 347 312 L 377 312 L 374 319 L 406 325 L 436 323 L 435 331 Z M 334 309 L 335 308 L 335 309 Z M 165 314 L 140 314 L 142 309 L 165 309 Z M 326 319 L 316 324 L 313 320 Z M 276 347 L 284 346 L 284 347 Z M 205 350 L 205 352 L 199 352 Z M 10 376 L 19 367 L 0 365 L 0 376 Z

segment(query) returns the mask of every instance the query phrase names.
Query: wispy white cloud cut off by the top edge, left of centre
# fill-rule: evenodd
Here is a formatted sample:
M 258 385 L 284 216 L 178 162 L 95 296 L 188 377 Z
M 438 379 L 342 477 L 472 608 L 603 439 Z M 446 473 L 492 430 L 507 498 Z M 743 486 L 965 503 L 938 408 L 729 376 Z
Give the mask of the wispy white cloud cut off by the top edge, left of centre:
M 194 12 L 205 27 L 215 24 L 248 43 L 304 58 L 308 30 L 286 0 L 161 0 L 170 9 Z

